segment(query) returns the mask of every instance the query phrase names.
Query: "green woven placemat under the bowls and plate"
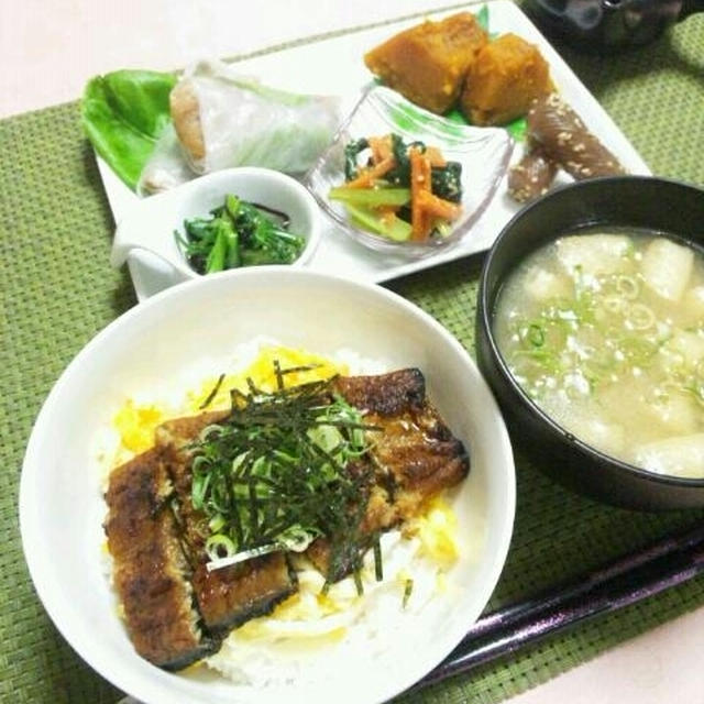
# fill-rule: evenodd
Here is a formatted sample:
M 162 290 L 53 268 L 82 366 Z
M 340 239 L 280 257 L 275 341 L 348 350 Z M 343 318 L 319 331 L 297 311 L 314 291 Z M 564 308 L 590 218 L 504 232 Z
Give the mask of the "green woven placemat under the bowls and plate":
M 564 56 L 653 173 L 704 184 L 704 18 L 617 57 L 566 50 Z M 0 122 L 0 701 L 113 703 L 121 693 L 74 653 L 36 598 L 20 544 L 16 496 L 32 422 L 52 384 L 135 300 L 128 275 L 108 264 L 112 218 L 77 105 Z M 481 263 L 481 256 L 470 257 L 391 288 L 472 351 Z M 492 607 L 704 518 L 700 510 L 652 515 L 598 505 L 551 484 L 520 455 L 517 473 L 514 540 Z M 702 605 L 704 579 L 697 579 L 400 701 L 499 702 Z

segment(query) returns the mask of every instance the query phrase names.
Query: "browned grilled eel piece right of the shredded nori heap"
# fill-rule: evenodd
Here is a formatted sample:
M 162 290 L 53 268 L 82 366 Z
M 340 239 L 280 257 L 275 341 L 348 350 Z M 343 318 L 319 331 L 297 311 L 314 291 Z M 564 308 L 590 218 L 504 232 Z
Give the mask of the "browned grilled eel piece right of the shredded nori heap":
M 336 391 L 364 410 L 364 422 L 382 428 L 367 431 L 374 471 L 361 538 L 388 530 L 416 516 L 432 496 L 459 484 L 470 471 L 469 457 L 426 396 L 420 370 L 406 369 L 375 376 L 341 376 Z M 315 540 L 307 556 L 331 581 L 351 569 L 340 563 L 330 571 L 330 543 Z

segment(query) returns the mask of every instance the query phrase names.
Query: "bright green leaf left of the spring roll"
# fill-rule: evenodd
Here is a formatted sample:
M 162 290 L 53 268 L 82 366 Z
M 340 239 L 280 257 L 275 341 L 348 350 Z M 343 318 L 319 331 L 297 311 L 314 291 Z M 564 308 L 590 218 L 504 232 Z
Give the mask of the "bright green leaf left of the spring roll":
M 162 130 L 170 122 L 175 74 L 117 70 L 86 85 L 81 122 L 90 143 L 132 189 Z

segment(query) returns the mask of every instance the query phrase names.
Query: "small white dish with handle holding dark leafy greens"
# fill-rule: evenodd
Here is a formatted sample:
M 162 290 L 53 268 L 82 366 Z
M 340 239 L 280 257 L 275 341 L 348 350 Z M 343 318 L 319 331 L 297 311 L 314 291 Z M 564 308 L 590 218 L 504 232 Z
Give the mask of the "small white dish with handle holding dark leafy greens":
M 175 231 L 184 233 L 184 220 L 207 217 L 234 194 L 243 200 L 285 212 L 290 232 L 306 239 L 292 264 L 302 266 L 320 242 L 320 213 L 308 190 L 290 176 L 270 168 L 241 167 L 201 176 L 178 188 L 140 200 L 118 223 L 110 263 L 122 266 L 130 254 L 148 252 L 168 263 L 183 279 L 199 278 L 186 261 Z

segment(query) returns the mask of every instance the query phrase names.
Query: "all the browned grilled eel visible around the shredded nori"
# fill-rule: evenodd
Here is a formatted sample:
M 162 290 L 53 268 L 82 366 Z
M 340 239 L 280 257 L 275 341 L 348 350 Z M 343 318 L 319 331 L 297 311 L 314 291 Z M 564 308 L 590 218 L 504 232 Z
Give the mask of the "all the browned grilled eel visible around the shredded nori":
M 363 536 L 416 515 L 424 502 L 469 472 L 464 447 L 427 399 L 419 370 L 339 377 L 334 391 L 365 411 L 366 424 L 383 429 L 369 431 L 373 484 Z M 227 415 L 210 411 L 163 424 L 155 448 L 110 475 L 106 531 L 128 630 L 138 652 L 165 668 L 178 669 L 212 652 L 230 628 L 270 612 L 297 588 L 283 553 L 206 569 L 208 529 L 190 502 L 188 443 Z M 174 496 L 176 513 L 169 501 Z M 341 564 L 328 574 L 330 546 L 324 539 L 316 540 L 307 554 L 328 579 L 341 579 L 351 566 Z M 198 630 L 199 617 L 206 637 Z

